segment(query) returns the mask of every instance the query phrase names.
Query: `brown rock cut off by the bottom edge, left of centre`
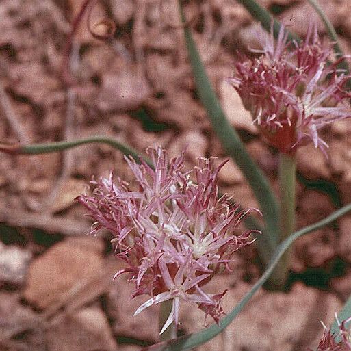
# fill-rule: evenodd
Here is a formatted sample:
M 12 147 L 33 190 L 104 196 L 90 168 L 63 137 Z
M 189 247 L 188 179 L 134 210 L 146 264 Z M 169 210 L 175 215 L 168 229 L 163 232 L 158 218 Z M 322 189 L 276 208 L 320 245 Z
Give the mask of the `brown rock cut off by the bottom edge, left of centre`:
M 107 318 L 98 307 L 66 315 L 49 328 L 47 343 L 49 351 L 117 350 Z

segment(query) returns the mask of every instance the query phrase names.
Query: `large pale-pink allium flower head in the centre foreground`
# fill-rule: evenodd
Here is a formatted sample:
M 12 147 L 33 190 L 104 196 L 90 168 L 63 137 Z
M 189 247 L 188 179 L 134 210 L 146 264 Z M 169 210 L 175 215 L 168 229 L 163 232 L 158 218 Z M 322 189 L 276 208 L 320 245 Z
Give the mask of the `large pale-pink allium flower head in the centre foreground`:
M 121 179 L 92 181 L 92 196 L 78 200 L 96 221 L 92 233 L 101 228 L 111 231 L 116 256 L 127 268 L 116 273 L 129 274 L 135 284 L 133 296 L 151 296 L 135 312 L 172 299 L 172 311 L 161 333 L 179 318 L 181 300 L 195 302 L 205 315 L 219 321 L 225 294 L 207 294 L 203 285 L 222 268 L 229 269 L 233 253 L 252 242 L 246 231 L 234 231 L 249 211 L 239 211 L 230 198 L 218 198 L 218 168 L 213 159 L 200 158 L 198 166 L 184 172 L 183 154 L 168 162 L 166 151 L 148 149 L 151 168 L 125 158 L 133 171 L 138 190 Z M 225 163 L 225 162 L 224 162 Z

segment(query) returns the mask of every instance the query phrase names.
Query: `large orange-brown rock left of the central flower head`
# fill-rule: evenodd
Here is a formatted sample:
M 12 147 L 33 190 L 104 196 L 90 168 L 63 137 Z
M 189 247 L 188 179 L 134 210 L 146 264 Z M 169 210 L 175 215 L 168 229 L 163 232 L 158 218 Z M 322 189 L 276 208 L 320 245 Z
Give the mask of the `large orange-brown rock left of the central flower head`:
M 35 259 L 28 270 L 26 300 L 44 309 L 77 281 L 103 268 L 103 242 L 92 237 L 72 237 L 55 244 Z

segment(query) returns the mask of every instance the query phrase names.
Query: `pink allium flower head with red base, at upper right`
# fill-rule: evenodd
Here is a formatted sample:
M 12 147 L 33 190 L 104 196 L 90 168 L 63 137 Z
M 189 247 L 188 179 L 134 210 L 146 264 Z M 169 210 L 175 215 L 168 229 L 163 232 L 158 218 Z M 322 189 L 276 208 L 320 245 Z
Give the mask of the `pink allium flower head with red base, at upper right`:
M 272 33 L 272 29 L 271 29 Z M 318 130 L 351 116 L 350 94 L 343 90 L 350 75 L 337 68 L 330 44 L 322 44 L 317 26 L 300 43 L 287 43 L 281 26 L 278 39 L 263 29 L 258 34 L 261 56 L 235 64 L 229 82 L 242 98 L 253 122 L 281 153 L 312 140 L 326 153 Z

